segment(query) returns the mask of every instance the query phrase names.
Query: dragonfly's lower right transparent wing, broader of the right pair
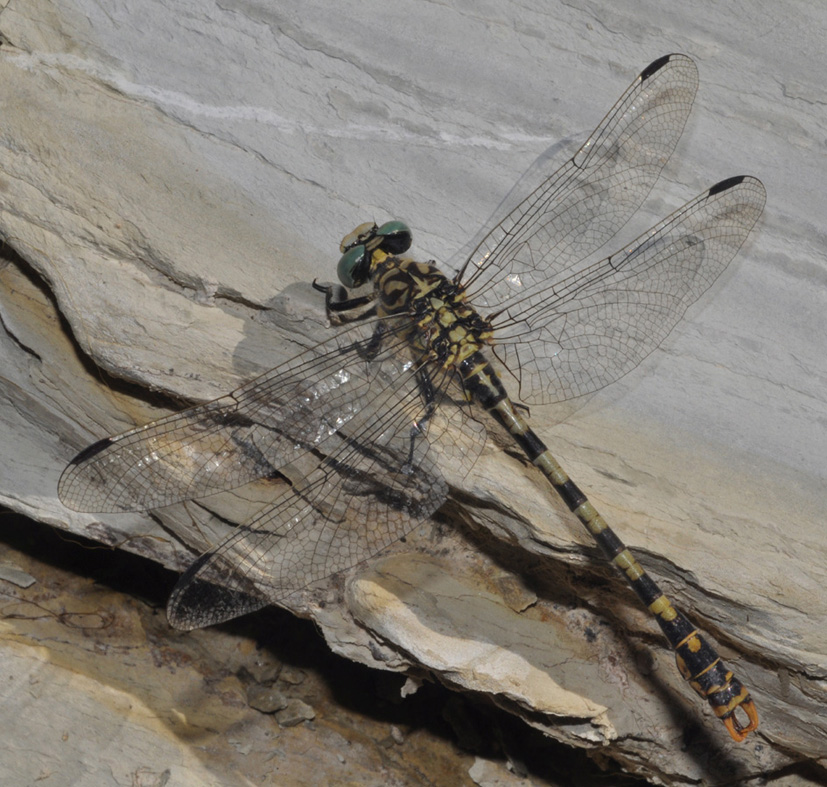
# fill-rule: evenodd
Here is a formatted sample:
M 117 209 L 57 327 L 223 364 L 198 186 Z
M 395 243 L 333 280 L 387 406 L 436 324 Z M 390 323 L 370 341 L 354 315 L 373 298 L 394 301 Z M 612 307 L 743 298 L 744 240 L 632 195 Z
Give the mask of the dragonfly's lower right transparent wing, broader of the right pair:
M 756 178 L 721 181 L 626 249 L 515 296 L 494 328 L 522 401 L 563 401 L 631 371 L 726 268 L 765 201 Z

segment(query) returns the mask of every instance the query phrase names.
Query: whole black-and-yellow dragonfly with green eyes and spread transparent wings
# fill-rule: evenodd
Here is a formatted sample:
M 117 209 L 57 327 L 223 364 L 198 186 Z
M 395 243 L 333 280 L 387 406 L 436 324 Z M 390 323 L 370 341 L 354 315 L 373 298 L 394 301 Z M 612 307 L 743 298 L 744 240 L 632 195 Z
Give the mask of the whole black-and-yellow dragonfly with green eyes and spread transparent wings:
M 654 616 L 682 676 L 745 740 L 758 726 L 749 691 L 527 423 L 529 405 L 585 396 L 638 366 L 758 220 L 763 185 L 732 177 L 594 259 L 649 195 L 697 87 L 685 55 L 647 66 L 570 160 L 540 165 L 540 185 L 451 274 L 404 256 L 404 223 L 360 225 L 340 246 L 341 286 L 313 283 L 329 338 L 215 401 L 94 443 L 64 470 L 60 499 L 77 511 L 144 511 L 283 482 L 181 576 L 168 617 L 197 628 L 403 538 L 445 501 L 440 468 L 469 473 L 493 426 L 545 475 Z

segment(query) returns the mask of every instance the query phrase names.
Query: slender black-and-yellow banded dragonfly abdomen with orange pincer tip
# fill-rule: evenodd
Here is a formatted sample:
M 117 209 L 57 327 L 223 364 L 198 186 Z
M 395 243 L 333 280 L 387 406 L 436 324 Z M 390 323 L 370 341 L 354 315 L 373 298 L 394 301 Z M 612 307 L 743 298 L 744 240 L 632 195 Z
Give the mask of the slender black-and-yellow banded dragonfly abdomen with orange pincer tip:
M 715 715 L 723 721 L 729 734 L 739 743 L 758 727 L 758 711 L 749 691 L 727 668 L 715 649 L 704 639 L 686 616 L 644 571 L 634 555 L 606 524 L 586 495 L 568 477 L 543 442 L 517 414 L 508 398 L 492 402 L 492 415 L 512 434 L 531 461 L 542 470 L 563 502 L 585 525 L 603 554 L 623 572 L 657 620 L 661 631 L 675 651 L 675 660 L 684 679 L 705 699 Z M 747 716 L 742 724 L 736 716 L 741 708 Z

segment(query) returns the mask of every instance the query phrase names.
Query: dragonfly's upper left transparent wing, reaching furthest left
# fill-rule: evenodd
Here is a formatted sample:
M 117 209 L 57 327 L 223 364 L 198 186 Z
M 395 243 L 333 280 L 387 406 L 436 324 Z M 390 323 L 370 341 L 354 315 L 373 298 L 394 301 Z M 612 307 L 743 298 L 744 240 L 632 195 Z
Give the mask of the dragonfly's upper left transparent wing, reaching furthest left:
M 410 376 L 398 337 L 371 357 L 376 324 L 350 325 L 227 396 L 89 446 L 64 470 L 60 499 L 76 511 L 144 511 L 273 477 Z

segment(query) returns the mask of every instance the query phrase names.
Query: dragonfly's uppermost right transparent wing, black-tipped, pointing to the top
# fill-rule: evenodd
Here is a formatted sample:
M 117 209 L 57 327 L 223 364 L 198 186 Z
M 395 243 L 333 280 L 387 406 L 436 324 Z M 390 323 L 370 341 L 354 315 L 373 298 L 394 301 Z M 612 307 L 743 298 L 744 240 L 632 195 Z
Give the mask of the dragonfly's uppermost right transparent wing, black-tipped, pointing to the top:
M 611 240 L 683 132 L 698 71 L 685 55 L 644 69 L 574 157 L 513 208 L 459 273 L 483 316 L 508 309 Z

